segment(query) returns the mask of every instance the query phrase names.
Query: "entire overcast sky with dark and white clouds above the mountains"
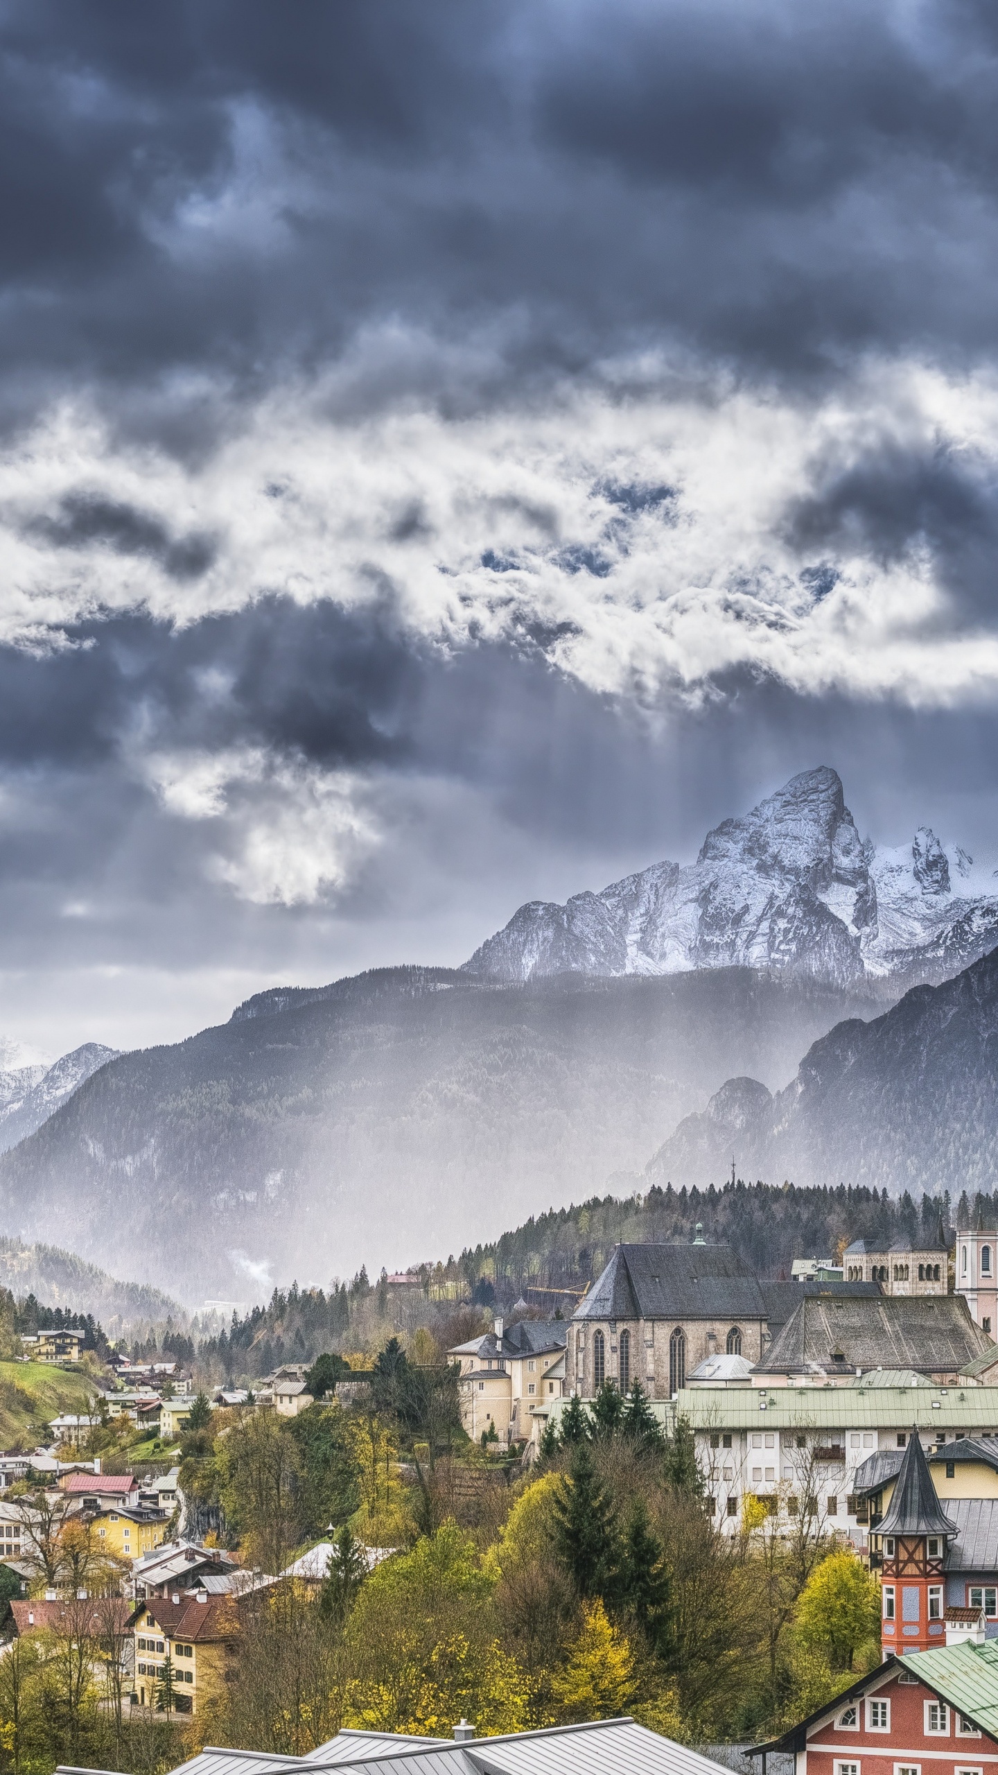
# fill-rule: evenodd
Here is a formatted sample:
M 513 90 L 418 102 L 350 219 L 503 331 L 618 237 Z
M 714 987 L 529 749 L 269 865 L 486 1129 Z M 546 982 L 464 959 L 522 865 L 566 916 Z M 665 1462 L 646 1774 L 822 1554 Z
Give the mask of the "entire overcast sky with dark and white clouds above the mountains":
M 0 1033 L 991 854 L 998 9 L 0 0 Z

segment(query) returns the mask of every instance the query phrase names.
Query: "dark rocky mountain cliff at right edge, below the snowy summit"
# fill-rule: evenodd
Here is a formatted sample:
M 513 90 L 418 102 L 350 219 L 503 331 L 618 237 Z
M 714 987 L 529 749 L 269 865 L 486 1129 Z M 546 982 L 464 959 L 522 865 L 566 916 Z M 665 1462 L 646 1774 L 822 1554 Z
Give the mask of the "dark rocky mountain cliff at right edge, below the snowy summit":
M 998 950 L 872 1022 L 847 1019 L 771 1095 L 732 1077 L 685 1116 L 652 1182 L 741 1177 L 932 1193 L 991 1191 L 998 1141 Z

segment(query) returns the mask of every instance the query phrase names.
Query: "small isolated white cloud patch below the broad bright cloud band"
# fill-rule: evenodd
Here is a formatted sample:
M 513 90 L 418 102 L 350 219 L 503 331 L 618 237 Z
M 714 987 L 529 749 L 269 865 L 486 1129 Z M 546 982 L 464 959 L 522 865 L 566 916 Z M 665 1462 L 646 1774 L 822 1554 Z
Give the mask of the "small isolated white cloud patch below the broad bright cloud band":
M 314 905 L 341 889 L 378 843 L 357 772 L 321 770 L 259 747 L 151 753 L 140 769 L 169 813 L 218 822 L 206 873 L 257 905 Z

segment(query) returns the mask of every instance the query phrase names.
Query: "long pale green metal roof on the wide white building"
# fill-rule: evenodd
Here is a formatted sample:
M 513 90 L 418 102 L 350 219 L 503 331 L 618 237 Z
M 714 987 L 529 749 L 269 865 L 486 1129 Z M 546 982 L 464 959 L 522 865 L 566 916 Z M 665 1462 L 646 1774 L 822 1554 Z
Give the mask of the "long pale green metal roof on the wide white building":
M 954 1429 L 998 1432 L 998 1386 L 687 1386 L 675 1408 L 653 1402 L 661 1416 L 682 1413 L 701 1431 L 765 1429 Z M 765 1409 L 764 1409 L 765 1408 Z

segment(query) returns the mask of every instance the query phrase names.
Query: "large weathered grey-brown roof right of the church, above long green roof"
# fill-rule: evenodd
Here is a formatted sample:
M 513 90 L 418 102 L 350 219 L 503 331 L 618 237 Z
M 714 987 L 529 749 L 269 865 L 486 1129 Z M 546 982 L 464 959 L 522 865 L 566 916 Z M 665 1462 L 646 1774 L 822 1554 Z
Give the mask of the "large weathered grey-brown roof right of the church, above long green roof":
M 959 1294 L 824 1299 L 808 1296 L 756 1365 L 760 1374 L 916 1369 L 961 1374 L 987 1342 Z

